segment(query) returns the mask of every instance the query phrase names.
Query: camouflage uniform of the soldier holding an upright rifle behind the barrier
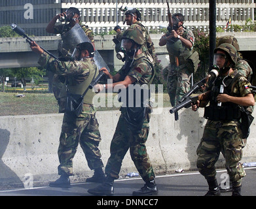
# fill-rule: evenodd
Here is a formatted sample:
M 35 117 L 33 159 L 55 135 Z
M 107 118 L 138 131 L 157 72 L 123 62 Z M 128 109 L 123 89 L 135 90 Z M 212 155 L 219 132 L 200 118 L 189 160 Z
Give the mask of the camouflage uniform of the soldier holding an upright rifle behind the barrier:
M 169 32 L 166 36 L 170 35 Z M 181 35 L 184 39 L 190 40 L 192 43 L 192 48 L 185 48 L 186 50 L 192 51 L 194 46 L 194 34 L 191 30 L 183 28 L 183 34 Z M 167 76 L 167 89 L 170 97 L 170 103 L 172 106 L 178 104 L 178 101 L 189 91 L 191 86 L 191 71 L 187 68 L 185 64 L 184 55 L 186 52 L 181 54 L 179 59 L 179 67 L 175 63 L 175 57 L 172 54 L 170 56 L 170 64 L 168 65 L 168 76 Z

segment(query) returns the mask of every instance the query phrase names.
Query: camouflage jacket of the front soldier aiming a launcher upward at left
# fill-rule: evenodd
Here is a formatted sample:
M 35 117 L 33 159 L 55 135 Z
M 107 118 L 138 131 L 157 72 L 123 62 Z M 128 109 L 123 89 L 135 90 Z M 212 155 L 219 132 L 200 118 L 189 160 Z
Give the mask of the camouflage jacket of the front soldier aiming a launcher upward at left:
M 82 61 L 57 61 L 44 52 L 38 63 L 42 67 L 47 66 L 51 71 L 65 76 L 68 91 L 80 95 L 84 93 L 92 80 L 88 81 L 88 76 L 94 76 L 96 72 L 98 74 L 94 60 L 91 58 L 84 58 Z

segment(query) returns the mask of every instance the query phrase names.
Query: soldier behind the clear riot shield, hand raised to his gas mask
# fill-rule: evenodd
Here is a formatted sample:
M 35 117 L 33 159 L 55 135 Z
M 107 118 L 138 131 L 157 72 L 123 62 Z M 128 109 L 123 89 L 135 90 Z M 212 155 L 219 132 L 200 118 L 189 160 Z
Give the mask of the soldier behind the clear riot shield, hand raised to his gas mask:
M 56 25 L 56 21 L 59 18 L 66 16 L 67 22 L 65 24 Z M 88 38 L 91 40 L 92 45 L 94 46 L 94 35 L 92 31 L 88 28 L 87 25 L 83 25 L 80 20 L 80 11 L 75 7 L 68 8 L 65 12 L 61 14 L 57 14 L 52 18 L 52 20 L 49 22 L 49 24 L 46 27 L 46 31 L 48 33 L 54 33 L 54 34 L 61 34 L 64 35 L 69 31 L 75 24 L 81 25 L 82 29 L 84 30 L 84 33 L 88 36 Z M 94 46 L 95 47 L 95 46 Z M 62 57 L 63 61 L 68 61 L 71 57 L 71 50 L 70 49 L 64 49 L 62 48 L 62 42 L 60 42 L 58 46 L 58 54 L 60 57 Z M 59 112 L 65 111 L 65 101 L 66 101 L 66 89 L 65 89 L 65 78 L 64 76 L 60 74 L 54 74 L 52 78 L 52 91 L 54 93 L 55 98 L 58 101 L 59 105 Z

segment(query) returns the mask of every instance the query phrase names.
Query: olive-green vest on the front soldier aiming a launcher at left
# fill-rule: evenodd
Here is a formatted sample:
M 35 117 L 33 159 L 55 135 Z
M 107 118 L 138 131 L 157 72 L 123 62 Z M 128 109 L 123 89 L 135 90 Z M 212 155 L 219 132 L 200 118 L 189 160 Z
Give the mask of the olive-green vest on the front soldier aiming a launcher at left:
M 92 66 L 93 68 L 90 69 L 90 74 L 88 75 L 88 78 L 86 78 L 86 80 L 84 80 L 80 84 L 68 85 L 67 88 L 69 93 L 78 94 L 78 95 L 82 95 L 84 93 L 84 91 L 88 88 L 88 86 L 92 82 L 93 78 L 96 78 L 96 76 L 98 76 L 99 74 L 96 65 L 92 65 Z M 88 89 L 88 91 L 84 95 L 84 103 L 92 105 L 92 99 L 94 95 L 95 93 L 93 89 Z

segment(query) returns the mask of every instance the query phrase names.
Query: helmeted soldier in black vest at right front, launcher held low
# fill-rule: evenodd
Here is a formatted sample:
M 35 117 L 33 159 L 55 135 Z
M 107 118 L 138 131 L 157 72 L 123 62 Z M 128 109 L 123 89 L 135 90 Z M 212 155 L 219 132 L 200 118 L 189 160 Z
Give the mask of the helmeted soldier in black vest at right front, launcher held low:
M 208 119 L 201 142 L 197 148 L 197 167 L 209 185 L 206 195 L 221 195 L 217 184 L 215 163 L 220 152 L 226 161 L 226 169 L 232 182 L 232 195 L 241 195 L 242 178 L 246 176 L 242 159 L 242 131 L 240 129 L 240 106 L 253 106 L 255 101 L 247 79 L 234 69 L 238 52 L 231 44 L 221 44 L 214 50 L 219 76 L 208 81 L 210 105 L 205 107 L 204 118 Z M 220 92 L 221 85 L 224 92 Z M 204 104 L 205 105 L 205 104 Z M 192 110 L 200 101 L 192 105 Z

